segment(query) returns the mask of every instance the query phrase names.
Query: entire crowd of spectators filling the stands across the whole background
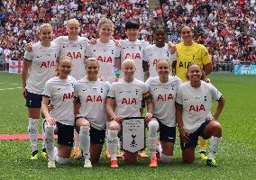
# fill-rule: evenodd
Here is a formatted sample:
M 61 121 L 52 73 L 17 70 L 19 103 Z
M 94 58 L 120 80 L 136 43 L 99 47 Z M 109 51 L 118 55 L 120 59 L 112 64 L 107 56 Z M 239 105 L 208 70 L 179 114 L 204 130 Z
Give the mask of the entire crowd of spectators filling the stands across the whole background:
M 255 62 L 255 0 L 160 0 L 150 13 L 148 0 L 3 0 L 0 2 L 0 57 L 22 59 L 27 42 L 38 40 L 41 23 L 50 23 L 55 36 L 67 35 L 70 18 L 82 24 L 81 36 L 96 38 L 96 23 L 106 16 L 114 22 L 114 39 L 125 38 L 124 23 L 141 24 L 140 38 L 152 41 L 152 27 L 167 27 L 169 40 L 180 41 L 187 24 L 195 40 L 205 44 L 215 65 Z

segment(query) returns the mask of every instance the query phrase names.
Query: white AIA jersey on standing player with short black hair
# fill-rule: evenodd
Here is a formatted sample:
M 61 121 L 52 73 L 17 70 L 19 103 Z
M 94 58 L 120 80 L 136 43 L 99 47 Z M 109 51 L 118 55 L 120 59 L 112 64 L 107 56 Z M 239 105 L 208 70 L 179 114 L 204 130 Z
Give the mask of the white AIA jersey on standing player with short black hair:
M 134 77 L 144 82 L 144 72 L 142 68 L 142 61 L 144 60 L 144 49 L 149 46 L 149 42 L 145 40 L 120 40 L 121 45 L 121 64 L 126 58 L 132 58 L 136 64 L 136 71 Z M 121 76 L 122 72 L 121 72 Z

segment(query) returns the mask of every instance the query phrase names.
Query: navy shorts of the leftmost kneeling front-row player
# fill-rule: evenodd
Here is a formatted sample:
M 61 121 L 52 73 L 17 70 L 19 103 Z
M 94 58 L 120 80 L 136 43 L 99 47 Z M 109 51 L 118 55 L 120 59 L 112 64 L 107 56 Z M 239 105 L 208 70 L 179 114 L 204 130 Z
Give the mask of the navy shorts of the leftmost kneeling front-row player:
M 73 147 L 74 126 L 65 125 L 56 121 L 58 144 Z

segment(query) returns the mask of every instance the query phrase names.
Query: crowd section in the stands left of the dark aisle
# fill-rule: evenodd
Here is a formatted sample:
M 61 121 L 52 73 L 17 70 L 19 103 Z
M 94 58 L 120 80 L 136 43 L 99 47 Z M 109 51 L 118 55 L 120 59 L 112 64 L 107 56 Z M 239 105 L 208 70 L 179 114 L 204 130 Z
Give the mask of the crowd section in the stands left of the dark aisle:
M 56 37 L 67 35 L 66 24 L 76 18 L 82 24 L 81 36 L 96 38 L 96 24 L 105 16 L 115 25 L 114 39 L 124 38 L 128 19 L 150 27 L 147 0 L 4 0 L 0 4 L 1 56 L 22 59 L 25 44 L 38 41 L 41 23 L 50 23 Z M 146 38 L 146 37 L 143 37 Z

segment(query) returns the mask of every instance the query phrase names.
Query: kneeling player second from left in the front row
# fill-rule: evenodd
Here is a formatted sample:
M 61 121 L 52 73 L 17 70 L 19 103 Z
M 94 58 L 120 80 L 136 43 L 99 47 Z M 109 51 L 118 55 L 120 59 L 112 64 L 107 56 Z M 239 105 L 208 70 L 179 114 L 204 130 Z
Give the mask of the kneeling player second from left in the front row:
M 87 58 L 86 70 L 87 76 L 75 85 L 76 130 L 85 157 L 84 167 L 92 167 L 98 162 L 105 142 L 105 98 L 110 83 L 98 77 L 96 58 Z

